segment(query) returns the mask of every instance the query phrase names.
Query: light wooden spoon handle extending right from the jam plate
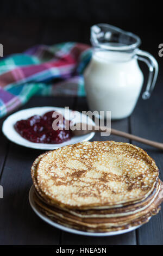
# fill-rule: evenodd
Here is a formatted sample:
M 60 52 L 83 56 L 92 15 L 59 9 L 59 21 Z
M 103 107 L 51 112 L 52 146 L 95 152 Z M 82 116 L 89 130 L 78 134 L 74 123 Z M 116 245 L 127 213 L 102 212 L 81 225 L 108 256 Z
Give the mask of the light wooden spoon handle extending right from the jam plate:
M 97 131 L 97 128 L 98 127 L 96 126 L 96 131 Z M 107 130 L 108 130 L 108 132 L 110 132 L 110 129 L 107 128 L 107 127 L 99 127 L 100 132 L 101 131 L 107 131 Z M 112 129 L 112 128 L 111 128 L 111 134 L 121 136 L 121 137 L 124 137 L 124 138 L 128 138 L 128 139 L 133 139 L 134 141 L 141 142 L 143 144 L 147 144 L 147 145 L 150 145 L 154 148 L 158 148 L 158 149 L 163 150 L 163 143 L 150 141 L 149 139 L 144 139 L 144 138 L 141 138 L 139 136 L 135 136 L 135 135 L 132 135 L 132 134 L 127 133 L 127 132 L 118 131 L 118 130 L 115 130 L 115 129 Z

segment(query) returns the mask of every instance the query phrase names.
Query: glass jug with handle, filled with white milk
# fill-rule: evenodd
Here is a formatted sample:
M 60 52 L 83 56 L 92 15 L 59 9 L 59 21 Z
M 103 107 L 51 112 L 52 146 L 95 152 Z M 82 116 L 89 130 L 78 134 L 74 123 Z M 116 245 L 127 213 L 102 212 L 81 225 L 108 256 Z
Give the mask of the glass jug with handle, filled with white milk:
M 92 58 L 84 71 L 89 108 L 98 111 L 101 117 L 111 111 L 111 119 L 126 118 L 133 112 L 143 84 L 137 60 L 149 68 L 144 100 L 155 86 L 158 63 L 151 54 L 138 48 L 138 36 L 107 24 L 91 27 L 91 42 Z

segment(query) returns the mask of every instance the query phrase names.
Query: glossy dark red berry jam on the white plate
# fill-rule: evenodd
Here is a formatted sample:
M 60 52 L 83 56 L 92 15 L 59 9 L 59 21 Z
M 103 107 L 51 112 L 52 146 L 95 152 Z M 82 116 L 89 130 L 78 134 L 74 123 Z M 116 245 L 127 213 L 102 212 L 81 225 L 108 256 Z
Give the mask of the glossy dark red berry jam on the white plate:
M 33 115 L 33 117 L 26 120 L 17 121 L 14 125 L 15 130 L 30 142 L 58 144 L 69 141 L 71 139 L 70 130 L 53 130 L 52 123 L 58 118 L 58 116 L 53 118 L 53 113 L 54 111 L 50 111 L 42 116 Z M 70 124 L 70 121 L 68 122 Z M 57 126 L 59 126 L 59 123 L 57 123 Z M 62 126 L 65 129 L 64 117 Z

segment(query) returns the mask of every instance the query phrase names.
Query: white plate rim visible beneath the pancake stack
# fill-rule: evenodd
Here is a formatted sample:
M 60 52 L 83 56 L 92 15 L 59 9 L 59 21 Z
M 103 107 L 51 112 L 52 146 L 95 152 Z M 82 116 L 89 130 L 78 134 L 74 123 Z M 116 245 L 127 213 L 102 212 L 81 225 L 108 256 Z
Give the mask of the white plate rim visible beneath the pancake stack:
M 86 231 L 80 231 L 77 229 L 72 229 L 72 228 L 67 228 L 64 225 L 60 225 L 58 223 L 53 222 L 50 218 L 48 218 L 46 215 L 42 214 L 42 212 L 40 212 L 35 205 L 34 199 L 33 199 L 33 195 L 34 195 L 34 185 L 32 185 L 32 187 L 30 188 L 29 191 L 29 203 L 30 206 L 32 207 L 32 209 L 34 210 L 35 214 L 38 215 L 43 221 L 47 222 L 48 224 L 52 225 L 55 228 L 59 228 L 61 230 L 73 233 L 73 234 L 77 234 L 77 235 L 86 235 L 86 236 L 112 236 L 112 235 L 121 235 L 130 231 L 133 231 L 136 228 L 139 228 L 141 225 L 136 226 L 136 227 L 131 227 L 128 229 L 124 229 L 124 230 L 118 230 L 118 231 L 112 231 L 112 232 L 105 232 L 105 233 L 91 233 L 91 232 L 86 232 Z

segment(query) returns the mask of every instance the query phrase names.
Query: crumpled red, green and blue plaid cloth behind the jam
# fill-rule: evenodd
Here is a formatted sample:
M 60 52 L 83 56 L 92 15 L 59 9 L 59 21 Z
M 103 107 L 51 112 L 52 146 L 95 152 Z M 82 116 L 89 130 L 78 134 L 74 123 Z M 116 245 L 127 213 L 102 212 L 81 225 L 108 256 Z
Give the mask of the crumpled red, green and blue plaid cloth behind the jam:
M 76 42 L 39 45 L 0 58 L 0 117 L 34 94 L 84 96 L 82 73 L 90 58 L 90 46 Z

